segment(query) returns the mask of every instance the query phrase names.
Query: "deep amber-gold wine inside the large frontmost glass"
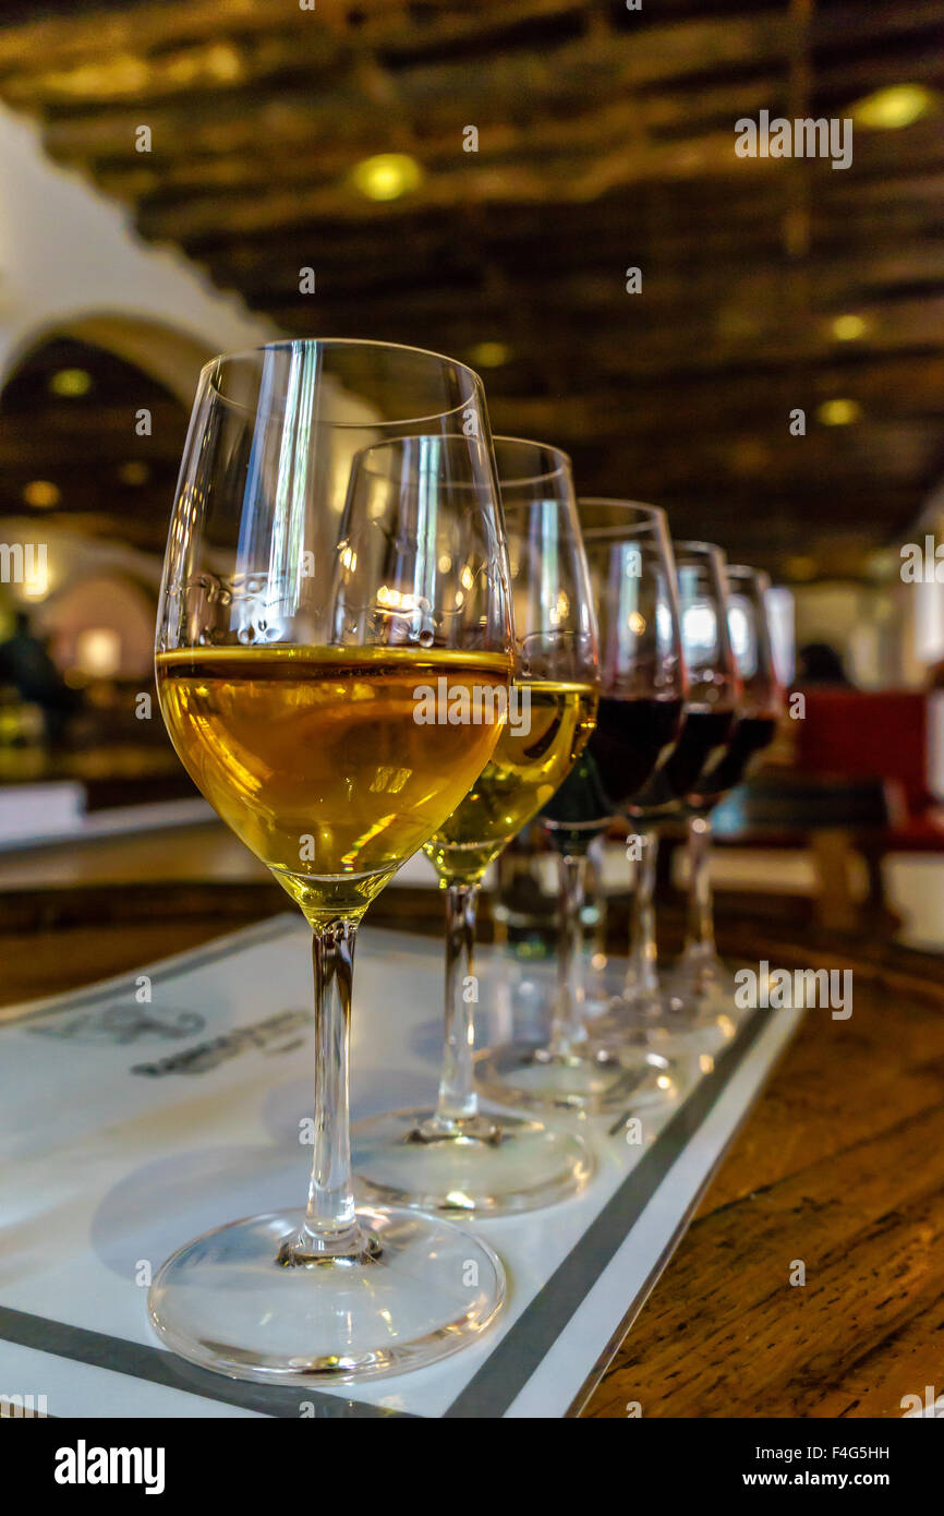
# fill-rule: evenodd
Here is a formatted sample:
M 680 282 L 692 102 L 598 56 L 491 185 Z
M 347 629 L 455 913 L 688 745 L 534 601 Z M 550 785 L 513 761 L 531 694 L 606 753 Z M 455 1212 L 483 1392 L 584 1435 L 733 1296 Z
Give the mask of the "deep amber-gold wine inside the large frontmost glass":
M 509 670 L 439 649 L 194 647 L 158 655 L 158 694 L 197 787 L 324 925 L 373 901 L 499 740 L 500 717 L 417 722 L 417 688 L 505 691 Z

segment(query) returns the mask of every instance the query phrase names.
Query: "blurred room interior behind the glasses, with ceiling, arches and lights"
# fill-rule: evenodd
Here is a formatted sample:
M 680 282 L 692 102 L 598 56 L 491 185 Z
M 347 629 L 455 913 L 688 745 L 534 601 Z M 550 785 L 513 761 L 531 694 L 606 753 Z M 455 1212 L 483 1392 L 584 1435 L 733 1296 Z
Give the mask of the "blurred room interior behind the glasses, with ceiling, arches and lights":
M 718 884 L 944 943 L 942 23 L 936 0 L 6 0 L 5 920 L 14 890 L 144 857 L 153 885 L 258 885 L 153 702 L 161 555 L 200 365 L 336 335 L 465 359 L 494 431 L 565 447 L 582 493 L 768 568 L 805 705 L 777 782 L 726 803 Z M 739 158 L 762 111 L 852 121 L 852 164 Z

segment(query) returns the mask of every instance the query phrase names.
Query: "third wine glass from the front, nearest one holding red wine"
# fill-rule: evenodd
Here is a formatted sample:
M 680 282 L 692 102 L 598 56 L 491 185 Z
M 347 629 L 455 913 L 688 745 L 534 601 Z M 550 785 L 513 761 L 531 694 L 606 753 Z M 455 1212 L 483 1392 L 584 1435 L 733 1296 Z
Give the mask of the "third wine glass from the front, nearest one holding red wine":
M 661 1055 L 600 1048 L 585 1025 L 580 910 L 586 855 L 615 814 L 665 761 L 686 690 L 676 570 L 665 512 L 630 500 L 580 500 L 600 626 L 600 703 L 586 750 L 544 808 L 559 855 L 558 988 L 547 1045 L 517 1041 L 479 1055 L 495 1099 L 586 1113 L 642 1110 L 676 1093 Z

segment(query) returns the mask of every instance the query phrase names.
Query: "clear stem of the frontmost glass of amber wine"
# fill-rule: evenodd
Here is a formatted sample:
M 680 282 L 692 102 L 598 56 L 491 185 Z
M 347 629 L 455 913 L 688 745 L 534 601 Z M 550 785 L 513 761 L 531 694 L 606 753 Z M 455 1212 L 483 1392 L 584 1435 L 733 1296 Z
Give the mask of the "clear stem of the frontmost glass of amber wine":
M 300 1236 L 282 1263 L 318 1263 L 364 1254 L 350 1172 L 349 1045 L 356 922 L 315 928 L 315 1116 L 312 1176 Z

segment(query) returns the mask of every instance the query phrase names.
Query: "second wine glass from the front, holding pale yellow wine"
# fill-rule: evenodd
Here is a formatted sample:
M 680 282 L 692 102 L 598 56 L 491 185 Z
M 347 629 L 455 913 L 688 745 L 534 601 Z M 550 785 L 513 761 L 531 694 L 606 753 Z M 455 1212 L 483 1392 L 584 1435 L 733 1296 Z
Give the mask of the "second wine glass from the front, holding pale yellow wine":
M 491 761 L 426 843 L 445 894 L 445 1045 L 435 1110 L 353 1128 L 353 1164 L 374 1199 L 497 1216 L 574 1195 L 585 1143 L 527 1116 L 485 1108 L 473 1079 L 479 979 L 473 948 L 488 866 L 573 767 L 597 709 L 597 629 L 570 459 L 495 437 L 515 628 L 509 717 Z

